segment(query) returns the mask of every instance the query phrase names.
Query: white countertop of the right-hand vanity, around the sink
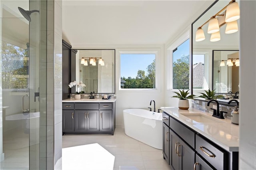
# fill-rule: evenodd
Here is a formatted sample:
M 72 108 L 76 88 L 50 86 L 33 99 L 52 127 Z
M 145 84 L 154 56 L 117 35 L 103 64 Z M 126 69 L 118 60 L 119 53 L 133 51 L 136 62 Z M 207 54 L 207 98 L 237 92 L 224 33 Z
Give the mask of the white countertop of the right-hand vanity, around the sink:
M 239 148 L 239 125 L 231 123 L 230 119 L 218 119 L 212 117 L 212 113 L 204 112 L 195 108 L 188 110 L 181 110 L 178 107 L 161 107 L 162 111 L 168 113 L 172 117 L 178 119 L 188 127 L 192 128 L 199 134 L 202 134 L 212 142 L 216 143 L 220 147 L 227 151 L 238 152 Z M 199 123 L 192 119 L 182 115 L 200 113 L 205 116 L 209 116 L 210 119 L 216 119 L 214 122 Z

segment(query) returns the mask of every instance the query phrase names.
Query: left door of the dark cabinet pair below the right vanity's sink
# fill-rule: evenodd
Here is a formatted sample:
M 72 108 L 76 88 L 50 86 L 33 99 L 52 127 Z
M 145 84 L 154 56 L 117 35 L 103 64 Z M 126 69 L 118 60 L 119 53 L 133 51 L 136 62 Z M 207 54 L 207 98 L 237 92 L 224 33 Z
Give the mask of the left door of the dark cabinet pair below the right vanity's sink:
M 178 147 L 180 147 L 179 145 L 179 137 L 170 130 L 170 166 L 174 170 L 179 169 L 179 156 L 177 152 Z

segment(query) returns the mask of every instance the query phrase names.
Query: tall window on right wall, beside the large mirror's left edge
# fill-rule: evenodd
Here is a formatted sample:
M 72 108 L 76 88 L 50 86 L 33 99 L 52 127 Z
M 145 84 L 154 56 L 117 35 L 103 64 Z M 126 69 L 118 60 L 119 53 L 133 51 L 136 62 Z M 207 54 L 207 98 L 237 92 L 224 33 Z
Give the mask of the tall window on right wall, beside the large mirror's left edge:
M 189 39 L 172 51 L 172 87 L 189 89 Z

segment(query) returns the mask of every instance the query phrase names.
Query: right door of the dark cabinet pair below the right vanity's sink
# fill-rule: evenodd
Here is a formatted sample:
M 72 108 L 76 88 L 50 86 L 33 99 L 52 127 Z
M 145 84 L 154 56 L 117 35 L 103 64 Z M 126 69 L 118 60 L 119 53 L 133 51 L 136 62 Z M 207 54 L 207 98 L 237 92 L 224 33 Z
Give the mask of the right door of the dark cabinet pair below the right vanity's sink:
M 180 168 L 181 170 L 191 170 L 194 167 L 195 152 L 180 139 L 180 147 L 178 153 L 180 155 Z

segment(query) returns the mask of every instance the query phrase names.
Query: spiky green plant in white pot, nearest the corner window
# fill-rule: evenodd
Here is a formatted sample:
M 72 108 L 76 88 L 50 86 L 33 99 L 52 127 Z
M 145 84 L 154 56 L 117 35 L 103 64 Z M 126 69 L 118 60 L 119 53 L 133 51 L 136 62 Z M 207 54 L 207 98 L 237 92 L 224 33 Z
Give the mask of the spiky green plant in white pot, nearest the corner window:
M 180 99 L 178 102 L 179 109 L 187 110 L 189 108 L 188 99 L 193 99 L 194 97 L 196 97 L 196 95 L 188 95 L 189 90 L 184 91 L 183 89 L 182 91 L 181 90 L 179 91 L 180 93 L 174 91 L 174 93 L 176 93 L 176 96 L 172 96 L 172 97 Z

